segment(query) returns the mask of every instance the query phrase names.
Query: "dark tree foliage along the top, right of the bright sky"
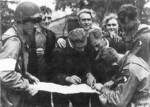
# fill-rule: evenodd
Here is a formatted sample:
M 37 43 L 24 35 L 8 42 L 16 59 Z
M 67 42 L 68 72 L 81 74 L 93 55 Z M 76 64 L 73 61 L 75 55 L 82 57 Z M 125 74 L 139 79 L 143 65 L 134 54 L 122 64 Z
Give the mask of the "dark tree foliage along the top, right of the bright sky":
M 56 10 L 65 10 L 67 6 L 73 10 L 78 8 L 93 9 L 97 13 L 99 22 L 101 22 L 105 14 L 117 12 L 122 4 L 130 3 L 137 6 L 139 18 L 142 20 L 145 17 L 143 7 L 146 2 L 148 0 L 56 0 Z

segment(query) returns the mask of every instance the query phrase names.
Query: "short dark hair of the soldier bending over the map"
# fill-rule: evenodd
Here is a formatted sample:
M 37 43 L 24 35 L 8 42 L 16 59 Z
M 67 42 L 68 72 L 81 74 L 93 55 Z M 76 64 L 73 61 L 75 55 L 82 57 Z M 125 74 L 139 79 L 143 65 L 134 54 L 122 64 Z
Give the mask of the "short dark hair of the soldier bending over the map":
M 96 61 L 103 62 L 109 66 L 112 65 L 112 63 L 116 62 L 118 60 L 118 53 L 115 49 L 111 47 L 104 47 L 102 50 L 99 51 Z

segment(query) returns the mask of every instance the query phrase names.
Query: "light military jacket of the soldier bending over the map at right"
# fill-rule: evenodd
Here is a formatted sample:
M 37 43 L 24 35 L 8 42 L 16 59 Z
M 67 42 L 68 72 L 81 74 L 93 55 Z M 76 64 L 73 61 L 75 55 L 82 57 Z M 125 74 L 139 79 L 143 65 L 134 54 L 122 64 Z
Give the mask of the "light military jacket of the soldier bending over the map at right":
M 142 58 L 127 54 L 111 89 L 101 92 L 109 107 L 150 107 L 150 69 Z

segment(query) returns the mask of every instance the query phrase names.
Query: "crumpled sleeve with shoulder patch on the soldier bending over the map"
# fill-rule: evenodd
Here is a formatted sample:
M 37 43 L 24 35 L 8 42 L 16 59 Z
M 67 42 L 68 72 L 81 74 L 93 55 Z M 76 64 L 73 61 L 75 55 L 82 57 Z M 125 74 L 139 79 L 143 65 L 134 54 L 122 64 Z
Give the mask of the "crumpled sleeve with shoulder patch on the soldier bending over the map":
M 127 71 L 115 82 L 117 82 L 117 86 L 114 90 L 103 87 L 101 92 L 106 96 L 108 105 L 125 107 L 136 90 L 138 79 L 133 73 Z

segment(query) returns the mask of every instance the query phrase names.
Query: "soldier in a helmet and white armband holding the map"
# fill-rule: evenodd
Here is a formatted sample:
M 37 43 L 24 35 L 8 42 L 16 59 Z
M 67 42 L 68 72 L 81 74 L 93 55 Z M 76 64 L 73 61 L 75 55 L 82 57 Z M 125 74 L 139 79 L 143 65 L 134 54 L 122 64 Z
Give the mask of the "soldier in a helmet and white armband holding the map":
M 2 35 L 0 59 L 6 64 L 1 63 L 3 69 L 0 72 L 0 81 L 2 91 L 7 91 L 7 95 L 2 96 L 3 107 L 20 106 L 22 92 L 31 95 L 38 92 L 31 88 L 30 83 L 37 83 L 39 80 L 27 72 L 26 57 L 29 35 L 33 33 L 35 24 L 40 20 L 40 8 L 32 2 L 22 2 L 15 10 L 14 25 Z M 13 67 L 9 68 L 10 66 Z

